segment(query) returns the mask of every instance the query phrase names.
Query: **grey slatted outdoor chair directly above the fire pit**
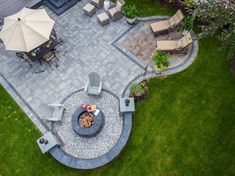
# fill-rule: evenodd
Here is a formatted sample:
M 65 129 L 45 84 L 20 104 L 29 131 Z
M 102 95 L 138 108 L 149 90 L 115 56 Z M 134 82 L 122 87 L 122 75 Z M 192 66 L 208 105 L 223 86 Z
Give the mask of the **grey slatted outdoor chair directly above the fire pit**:
M 88 95 L 100 95 L 102 90 L 102 83 L 98 73 L 92 72 L 88 75 L 88 81 L 84 90 Z

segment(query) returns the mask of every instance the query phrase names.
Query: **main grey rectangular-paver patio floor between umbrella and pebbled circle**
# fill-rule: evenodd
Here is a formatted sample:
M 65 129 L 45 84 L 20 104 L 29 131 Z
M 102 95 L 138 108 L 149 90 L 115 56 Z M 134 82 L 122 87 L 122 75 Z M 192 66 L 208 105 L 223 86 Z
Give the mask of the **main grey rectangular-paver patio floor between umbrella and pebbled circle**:
M 83 88 L 87 75 L 92 71 L 98 72 L 104 88 L 117 96 L 131 79 L 142 72 L 138 65 L 111 45 L 129 29 L 125 20 L 102 27 L 96 15 L 90 18 L 83 14 L 84 4 L 86 1 L 79 2 L 61 16 L 46 8 L 56 21 L 58 37 L 65 42 L 59 48 L 58 68 L 55 64 L 51 69 L 46 63 L 43 66 L 33 63 L 30 69 L 25 62 L 17 59 L 15 52 L 5 51 L 3 44 L 0 45 L 1 74 L 39 115 L 42 102 L 61 102 L 72 92 Z

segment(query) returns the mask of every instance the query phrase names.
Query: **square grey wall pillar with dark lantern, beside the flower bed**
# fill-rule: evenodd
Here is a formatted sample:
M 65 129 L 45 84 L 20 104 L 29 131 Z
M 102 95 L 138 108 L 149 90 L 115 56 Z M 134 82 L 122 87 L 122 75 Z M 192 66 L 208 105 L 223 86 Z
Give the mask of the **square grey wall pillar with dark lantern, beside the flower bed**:
M 121 98 L 120 99 L 120 112 L 135 112 L 134 98 Z

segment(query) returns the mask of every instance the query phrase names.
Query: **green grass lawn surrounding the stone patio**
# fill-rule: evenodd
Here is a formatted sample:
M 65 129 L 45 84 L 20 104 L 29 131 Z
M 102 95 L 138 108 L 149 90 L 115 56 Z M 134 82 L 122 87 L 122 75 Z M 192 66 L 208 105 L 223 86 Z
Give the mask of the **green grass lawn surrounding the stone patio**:
M 141 2 L 149 7 L 142 15 L 158 14 L 154 1 Z M 93 171 L 73 170 L 42 155 L 35 143 L 40 132 L 0 86 L 0 176 L 235 175 L 235 77 L 215 39 L 199 45 L 187 70 L 149 82 L 126 148 Z

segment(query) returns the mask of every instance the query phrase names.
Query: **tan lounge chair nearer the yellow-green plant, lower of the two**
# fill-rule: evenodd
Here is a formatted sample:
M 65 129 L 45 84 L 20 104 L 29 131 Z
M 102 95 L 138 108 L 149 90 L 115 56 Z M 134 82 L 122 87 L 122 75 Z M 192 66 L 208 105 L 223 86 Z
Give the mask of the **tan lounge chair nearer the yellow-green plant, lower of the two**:
M 157 41 L 157 49 L 160 51 L 166 51 L 169 53 L 177 53 L 177 52 L 182 52 L 182 50 L 185 49 L 192 42 L 193 42 L 192 36 L 189 32 L 179 40 Z

